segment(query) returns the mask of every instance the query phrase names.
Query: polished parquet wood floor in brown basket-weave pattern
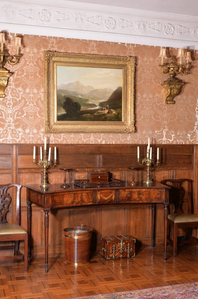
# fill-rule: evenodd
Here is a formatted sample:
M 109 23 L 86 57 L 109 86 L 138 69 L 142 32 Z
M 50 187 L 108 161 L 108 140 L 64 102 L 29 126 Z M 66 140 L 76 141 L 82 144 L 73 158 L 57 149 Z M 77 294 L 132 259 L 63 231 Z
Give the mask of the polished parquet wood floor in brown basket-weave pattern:
M 0 298 L 71 298 L 198 281 L 198 245 L 183 246 L 179 255 L 163 260 L 163 246 L 136 248 L 136 257 L 105 260 L 99 252 L 84 265 L 71 265 L 64 256 L 32 257 L 28 272 L 24 261 L 0 263 Z

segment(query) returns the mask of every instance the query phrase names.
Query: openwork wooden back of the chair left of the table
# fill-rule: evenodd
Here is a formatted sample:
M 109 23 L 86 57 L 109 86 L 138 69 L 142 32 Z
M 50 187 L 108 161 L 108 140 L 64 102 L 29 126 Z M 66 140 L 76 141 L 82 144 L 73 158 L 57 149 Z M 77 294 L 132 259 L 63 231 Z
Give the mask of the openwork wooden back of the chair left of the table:
M 20 207 L 20 190 L 22 185 L 19 184 L 7 184 L 7 185 L 0 185 L 0 224 L 1 223 L 7 223 L 6 220 L 6 215 L 7 212 L 9 211 L 9 206 L 11 203 L 11 196 L 10 194 L 7 192 L 7 190 L 10 187 L 17 187 L 17 194 L 16 194 L 16 224 L 19 225 L 19 219 L 20 219 L 20 215 L 19 215 L 19 207 Z

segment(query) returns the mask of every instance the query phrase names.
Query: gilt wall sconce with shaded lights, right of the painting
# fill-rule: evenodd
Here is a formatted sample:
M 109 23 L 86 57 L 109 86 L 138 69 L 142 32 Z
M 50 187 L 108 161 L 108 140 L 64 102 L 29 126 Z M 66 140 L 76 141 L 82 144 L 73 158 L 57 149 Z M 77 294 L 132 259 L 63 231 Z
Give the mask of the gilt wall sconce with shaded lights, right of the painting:
M 179 58 L 179 63 L 177 63 L 177 59 L 175 56 L 170 58 L 169 63 L 164 63 L 164 59 L 167 58 L 166 55 L 166 48 L 160 49 L 160 55 L 161 57 L 161 71 L 163 74 L 169 73 L 170 78 L 165 80 L 164 83 L 161 85 L 163 86 L 165 90 L 165 103 L 166 104 L 174 104 L 174 97 L 179 95 L 179 93 L 182 91 L 182 87 L 185 84 L 182 80 L 176 78 L 175 76 L 177 74 L 179 75 L 187 75 L 190 72 L 191 64 L 189 64 L 191 59 L 191 52 L 187 51 L 184 55 L 183 49 L 178 49 L 178 54 L 176 58 Z M 186 65 L 182 63 L 182 59 L 186 60 Z

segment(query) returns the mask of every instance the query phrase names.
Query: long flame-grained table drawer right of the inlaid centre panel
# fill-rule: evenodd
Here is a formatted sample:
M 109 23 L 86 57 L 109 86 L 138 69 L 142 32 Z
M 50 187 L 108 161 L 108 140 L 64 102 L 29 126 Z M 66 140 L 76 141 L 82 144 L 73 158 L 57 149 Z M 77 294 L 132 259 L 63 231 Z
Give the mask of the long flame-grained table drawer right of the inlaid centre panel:
M 120 190 L 120 203 L 163 203 L 164 190 Z

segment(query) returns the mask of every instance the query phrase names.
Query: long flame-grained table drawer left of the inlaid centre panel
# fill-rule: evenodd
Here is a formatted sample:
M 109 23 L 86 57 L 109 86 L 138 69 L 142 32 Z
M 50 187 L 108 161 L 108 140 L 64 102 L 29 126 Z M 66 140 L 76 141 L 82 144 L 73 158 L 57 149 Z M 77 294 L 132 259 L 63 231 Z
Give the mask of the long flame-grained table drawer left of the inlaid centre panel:
M 62 192 L 50 195 L 50 207 L 70 207 L 93 204 L 93 191 Z

